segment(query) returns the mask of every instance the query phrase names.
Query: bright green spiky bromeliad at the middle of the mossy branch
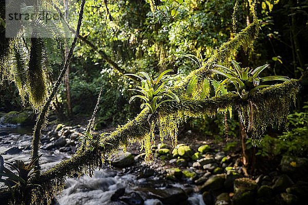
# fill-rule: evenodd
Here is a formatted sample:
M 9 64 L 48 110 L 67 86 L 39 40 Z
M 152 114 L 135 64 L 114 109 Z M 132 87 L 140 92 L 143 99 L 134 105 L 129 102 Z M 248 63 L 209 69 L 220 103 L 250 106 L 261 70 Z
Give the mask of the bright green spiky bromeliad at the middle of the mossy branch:
M 165 70 L 162 72 L 156 79 L 153 79 L 148 73 L 140 72 L 140 75 L 137 74 L 126 74 L 138 77 L 141 80 L 141 86 L 137 86 L 138 89 L 129 89 L 130 91 L 140 92 L 142 95 L 134 95 L 130 98 L 129 103 L 134 98 L 141 98 L 145 103 L 141 104 L 141 109 L 148 108 L 149 113 L 153 114 L 163 103 L 168 101 L 177 101 L 180 102 L 179 97 L 171 92 L 166 85 L 173 78 L 169 78 L 172 75 L 167 74 L 173 70 Z M 168 99 L 164 99 L 168 97 Z

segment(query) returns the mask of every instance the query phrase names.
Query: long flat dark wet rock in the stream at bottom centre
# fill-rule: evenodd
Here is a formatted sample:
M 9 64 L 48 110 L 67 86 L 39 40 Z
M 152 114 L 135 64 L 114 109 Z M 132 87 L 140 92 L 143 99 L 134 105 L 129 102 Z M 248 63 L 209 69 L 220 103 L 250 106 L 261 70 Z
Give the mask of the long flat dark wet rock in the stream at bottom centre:
M 188 198 L 187 194 L 180 188 L 154 189 L 146 187 L 137 190 L 147 193 L 149 198 L 159 199 L 163 204 L 179 204 Z

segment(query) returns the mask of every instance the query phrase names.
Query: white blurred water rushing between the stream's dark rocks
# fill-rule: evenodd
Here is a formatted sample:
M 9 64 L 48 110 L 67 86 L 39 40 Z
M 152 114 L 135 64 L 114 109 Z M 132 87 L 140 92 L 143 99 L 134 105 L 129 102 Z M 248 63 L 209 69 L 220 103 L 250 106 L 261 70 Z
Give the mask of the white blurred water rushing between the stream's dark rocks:
M 29 161 L 31 133 L 32 128 L 0 127 L 0 154 L 5 161 L 12 161 L 13 159 Z M 42 140 L 48 139 L 46 137 Z M 41 160 L 43 171 L 61 160 L 70 158 L 69 154 L 58 150 L 41 150 L 41 153 L 43 154 Z M 124 188 L 125 193 L 139 193 L 145 199 L 144 204 L 146 205 L 163 204 L 160 200 L 149 197 L 146 192 L 136 191 L 146 187 L 155 187 L 162 190 L 167 187 L 185 189 L 184 183 L 170 182 L 166 185 L 164 180 L 160 181 L 155 176 L 138 179 L 133 174 L 123 173 L 121 170 L 110 169 L 106 166 L 100 171 L 95 171 L 93 177 L 84 175 L 80 178 L 67 179 L 65 189 L 56 196 L 56 199 L 61 205 L 125 204 L 110 199 L 117 190 Z M 190 194 L 187 201 L 187 204 L 205 205 L 202 195 L 196 193 Z

